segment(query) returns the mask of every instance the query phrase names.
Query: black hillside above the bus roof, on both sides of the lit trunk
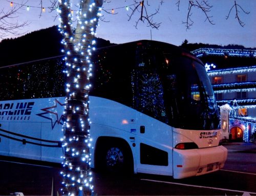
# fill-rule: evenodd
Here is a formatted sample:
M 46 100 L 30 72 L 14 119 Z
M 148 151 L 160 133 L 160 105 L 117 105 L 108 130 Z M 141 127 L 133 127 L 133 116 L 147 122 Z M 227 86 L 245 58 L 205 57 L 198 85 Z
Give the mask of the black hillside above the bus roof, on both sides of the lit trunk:
M 57 26 L 53 26 L 15 39 L 4 39 L 0 42 L 0 67 L 62 55 L 61 38 Z M 101 38 L 97 38 L 96 43 L 97 48 L 113 45 Z

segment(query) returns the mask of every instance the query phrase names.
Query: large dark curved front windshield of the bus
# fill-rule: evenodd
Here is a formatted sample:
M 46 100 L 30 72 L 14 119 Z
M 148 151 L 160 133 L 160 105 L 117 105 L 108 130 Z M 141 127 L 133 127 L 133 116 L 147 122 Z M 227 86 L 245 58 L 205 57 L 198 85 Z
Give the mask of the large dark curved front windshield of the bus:
M 217 129 L 219 112 L 204 66 L 185 56 L 166 59 L 163 83 L 168 123 L 185 129 Z

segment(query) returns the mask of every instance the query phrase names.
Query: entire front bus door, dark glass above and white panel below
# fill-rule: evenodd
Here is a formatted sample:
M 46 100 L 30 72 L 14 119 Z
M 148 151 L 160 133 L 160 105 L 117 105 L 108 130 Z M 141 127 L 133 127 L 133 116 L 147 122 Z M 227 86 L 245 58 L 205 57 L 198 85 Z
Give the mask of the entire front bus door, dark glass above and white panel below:
M 131 77 L 133 107 L 138 111 L 137 172 L 172 175 L 172 127 L 166 124 L 163 85 L 151 52 L 137 50 Z

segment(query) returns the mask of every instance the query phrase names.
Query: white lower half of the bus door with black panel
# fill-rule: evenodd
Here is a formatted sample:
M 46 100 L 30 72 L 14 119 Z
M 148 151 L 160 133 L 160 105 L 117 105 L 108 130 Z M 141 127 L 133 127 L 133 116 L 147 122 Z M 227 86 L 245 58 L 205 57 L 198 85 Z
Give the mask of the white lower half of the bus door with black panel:
M 137 172 L 172 176 L 172 127 L 144 114 L 138 114 L 137 121 Z

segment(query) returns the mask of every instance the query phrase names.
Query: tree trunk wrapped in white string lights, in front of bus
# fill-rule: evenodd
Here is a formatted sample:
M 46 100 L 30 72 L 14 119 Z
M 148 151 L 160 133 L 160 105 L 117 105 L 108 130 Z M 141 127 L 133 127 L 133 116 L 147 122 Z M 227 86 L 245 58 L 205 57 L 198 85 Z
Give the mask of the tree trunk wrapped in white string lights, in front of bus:
M 72 9 L 69 0 L 59 0 L 58 12 L 65 48 L 66 107 L 63 148 L 62 194 L 90 195 L 93 191 L 90 171 L 90 119 L 89 90 L 92 63 L 91 53 L 95 50 L 95 30 L 100 16 L 102 1 L 79 1 L 77 26 L 72 25 Z

